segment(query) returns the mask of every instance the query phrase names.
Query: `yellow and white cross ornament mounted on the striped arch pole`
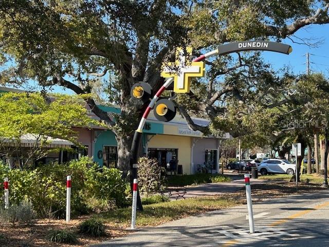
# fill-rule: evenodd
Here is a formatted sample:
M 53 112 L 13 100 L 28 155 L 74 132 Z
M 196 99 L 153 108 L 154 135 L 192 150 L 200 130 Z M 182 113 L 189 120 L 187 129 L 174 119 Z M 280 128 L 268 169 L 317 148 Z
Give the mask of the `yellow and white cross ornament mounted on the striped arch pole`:
M 192 55 L 192 47 L 186 48 L 187 56 Z M 179 47 L 176 49 L 176 61 L 162 64 L 161 77 L 174 77 L 174 92 L 189 93 L 192 77 L 205 76 L 204 62 L 187 61 L 184 50 Z

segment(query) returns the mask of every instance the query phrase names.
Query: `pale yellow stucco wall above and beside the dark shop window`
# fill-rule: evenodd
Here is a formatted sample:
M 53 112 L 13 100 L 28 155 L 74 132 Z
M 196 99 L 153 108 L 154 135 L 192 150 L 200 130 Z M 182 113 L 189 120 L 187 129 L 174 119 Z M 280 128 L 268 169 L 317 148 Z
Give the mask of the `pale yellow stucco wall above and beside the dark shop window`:
M 178 165 L 182 165 L 183 174 L 191 173 L 191 137 L 158 134 L 148 142 L 148 148 L 177 148 Z

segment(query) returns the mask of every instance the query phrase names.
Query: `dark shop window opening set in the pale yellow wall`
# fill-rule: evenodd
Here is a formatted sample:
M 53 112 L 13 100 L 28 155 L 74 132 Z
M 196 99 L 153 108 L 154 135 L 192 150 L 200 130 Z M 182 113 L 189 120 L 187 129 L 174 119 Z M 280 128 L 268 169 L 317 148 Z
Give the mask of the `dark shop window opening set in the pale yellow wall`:
M 178 149 L 175 148 L 149 148 L 149 158 L 156 158 L 162 167 L 167 168 L 167 164 L 170 162 L 178 163 Z

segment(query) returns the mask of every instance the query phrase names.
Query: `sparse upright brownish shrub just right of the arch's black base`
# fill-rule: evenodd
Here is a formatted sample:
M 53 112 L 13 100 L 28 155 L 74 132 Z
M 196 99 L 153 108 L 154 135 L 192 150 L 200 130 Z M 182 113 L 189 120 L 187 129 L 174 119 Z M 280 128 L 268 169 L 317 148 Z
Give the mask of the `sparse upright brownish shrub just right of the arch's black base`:
M 138 186 L 141 192 L 157 192 L 164 189 L 165 180 L 161 167 L 155 158 L 140 157 L 138 160 Z

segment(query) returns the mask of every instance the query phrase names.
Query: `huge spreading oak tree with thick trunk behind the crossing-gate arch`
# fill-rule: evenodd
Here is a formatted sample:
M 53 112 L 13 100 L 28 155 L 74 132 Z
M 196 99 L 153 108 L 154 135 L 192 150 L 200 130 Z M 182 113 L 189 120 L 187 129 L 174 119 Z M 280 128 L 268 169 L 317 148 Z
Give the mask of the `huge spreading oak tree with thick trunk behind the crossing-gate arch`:
M 157 90 L 164 80 L 160 65 L 173 59 L 176 46 L 191 45 L 197 55 L 225 42 L 280 41 L 304 26 L 329 23 L 328 7 L 327 1 L 308 0 L 2 0 L 0 81 L 35 81 L 45 89 L 60 85 L 85 94 L 116 134 L 118 165 L 127 171 L 132 135 L 145 108 L 130 99 L 131 86 L 144 81 Z M 257 53 L 207 64 L 206 80 L 194 82 L 193 103 L 175 96 L 190 128 L 203 132 L 209 127 L 196 125 L 192 113 L 215 122 L 234 99 L 266 93 L 272 82 Z M 255 84 L 261 75 L 265 87 Z M 100 96 L 121 108 L 120 115 L 112 114 L 116 121 L 97 107 Z

